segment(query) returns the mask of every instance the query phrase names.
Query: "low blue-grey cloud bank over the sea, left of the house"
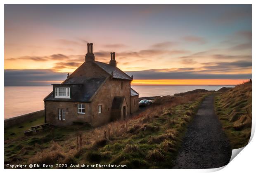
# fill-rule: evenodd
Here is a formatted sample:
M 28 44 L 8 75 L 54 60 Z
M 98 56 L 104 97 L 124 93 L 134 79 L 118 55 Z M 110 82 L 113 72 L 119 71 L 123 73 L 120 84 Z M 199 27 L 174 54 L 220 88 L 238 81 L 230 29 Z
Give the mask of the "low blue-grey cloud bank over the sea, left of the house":
M 50 69 L 5 70 L 5 86 L 44 86 L 54 83 L 52 81 L 64 79 L 66 73 L 54 72 Z

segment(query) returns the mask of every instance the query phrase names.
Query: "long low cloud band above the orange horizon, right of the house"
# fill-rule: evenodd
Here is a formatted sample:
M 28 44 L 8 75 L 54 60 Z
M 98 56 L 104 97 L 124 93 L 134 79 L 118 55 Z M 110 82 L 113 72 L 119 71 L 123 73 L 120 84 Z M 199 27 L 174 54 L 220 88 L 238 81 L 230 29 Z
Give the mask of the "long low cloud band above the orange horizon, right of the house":
M 150 69 L 129 71 L 134 79 L 247 79 L 251 61 L 209 62 L 199 68 Z M 246 70 L 246 72 L 244 72 Z

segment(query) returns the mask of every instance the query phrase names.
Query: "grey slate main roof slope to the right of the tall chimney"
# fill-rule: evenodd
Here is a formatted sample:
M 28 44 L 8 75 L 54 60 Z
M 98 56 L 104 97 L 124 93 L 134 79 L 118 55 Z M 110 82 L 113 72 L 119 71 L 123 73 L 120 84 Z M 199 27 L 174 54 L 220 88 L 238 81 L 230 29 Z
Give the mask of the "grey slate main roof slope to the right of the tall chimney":
M 123 72 L 122 70 L 120 70 L 117 67 L 113 67 L 107 63 L 102 63 L 99 61 L 95 61 L 95 63 L 102 68 L 104 71 L 106 71 L 107 73 L 109 73 L 109 75 L 112 74 L 113 72 L 113 77 L 116 79 L 126 79 L 126 80 L 132 80 L 133 78 L 130 77 L 129 75 L 127 75 L 125 72 Z

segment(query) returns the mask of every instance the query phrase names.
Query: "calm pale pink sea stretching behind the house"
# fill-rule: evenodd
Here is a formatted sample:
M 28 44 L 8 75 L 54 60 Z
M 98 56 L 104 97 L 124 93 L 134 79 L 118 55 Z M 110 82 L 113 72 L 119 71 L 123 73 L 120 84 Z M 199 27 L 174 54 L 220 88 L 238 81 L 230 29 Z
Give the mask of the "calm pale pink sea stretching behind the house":
M 218 90 L 224 86 L 132 86 L 140 97 L 166 96 L 194 89 Z M 5 86 L 5 118 L 44 109 L 43 99 L 52 86 Z

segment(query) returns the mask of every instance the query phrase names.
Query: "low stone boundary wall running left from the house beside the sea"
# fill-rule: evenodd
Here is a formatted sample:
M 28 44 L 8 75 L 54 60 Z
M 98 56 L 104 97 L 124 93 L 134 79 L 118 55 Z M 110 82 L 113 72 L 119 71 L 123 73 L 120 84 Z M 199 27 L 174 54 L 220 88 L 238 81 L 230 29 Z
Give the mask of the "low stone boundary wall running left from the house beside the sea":
M 7 118 L 5 119 L 5 127 L 14 126 L 20 123 L 24 123 L 31 119 L 37 119 L 39 117 L 43 117 L 45 115 L 45 110 L 39 110 L 36 112 L 31 112 L 25 115 L 20 115 L 17 117 Z

